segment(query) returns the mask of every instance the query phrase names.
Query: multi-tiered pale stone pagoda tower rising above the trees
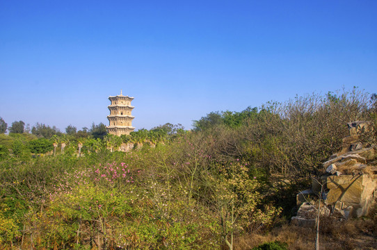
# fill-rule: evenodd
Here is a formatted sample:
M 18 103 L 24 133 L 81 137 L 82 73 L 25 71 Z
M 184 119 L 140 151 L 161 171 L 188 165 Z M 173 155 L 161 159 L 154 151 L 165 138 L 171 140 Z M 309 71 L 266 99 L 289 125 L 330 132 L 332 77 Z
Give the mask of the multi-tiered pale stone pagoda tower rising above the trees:
M 131 111 L 134 106 L 131 106 L 131 101 L 134 97 L 124 96 L 122 90 L 120 94 L 115 97 L 109 97 L 111 104 L 109 106 L 110 115 L 107 116 L 109 119 L 109 126 L 107 126 L 107 131 L 112 135 L 129 135 L 130 132 L 134 131 L 134 127 L 131 125 L 133 117 Z

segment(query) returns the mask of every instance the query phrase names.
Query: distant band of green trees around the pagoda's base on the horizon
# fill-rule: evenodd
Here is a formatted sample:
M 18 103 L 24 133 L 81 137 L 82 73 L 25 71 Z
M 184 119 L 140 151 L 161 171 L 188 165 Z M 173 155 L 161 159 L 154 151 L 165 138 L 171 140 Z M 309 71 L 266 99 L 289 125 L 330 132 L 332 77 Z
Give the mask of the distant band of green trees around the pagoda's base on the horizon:
M 77 153 L 78 144 L 83 144 L 83 153 L 88 151 L 98 151 L 99 149 L 116 150 L 122 143 L 133 143 L 139 147 L 143 142 L 155 145 L 172 138 L 173 135 L 185 133 L 181 124 L 163 124 L 150 129 L 141 128 L 133 131 L 130 135 L 120 137 L 111 135 L 107 132 L 103 123 L 92 124 L 92 127 L 84 127 L 77 131 L 75 126 L 69 125 L 65 128 L 65 133 L 46 124 L 37 123 L 33 128 L 25 129 L 23 121 L 13 122 L 8 128 L 9 135 L 5 135 L 7 124 L 0 117 L 0 158 L 12 154 L 16 157 L 28 158 L 31 154 L 41 154 L 51 152 L 54 144 L 66 144 L 65 153 Z

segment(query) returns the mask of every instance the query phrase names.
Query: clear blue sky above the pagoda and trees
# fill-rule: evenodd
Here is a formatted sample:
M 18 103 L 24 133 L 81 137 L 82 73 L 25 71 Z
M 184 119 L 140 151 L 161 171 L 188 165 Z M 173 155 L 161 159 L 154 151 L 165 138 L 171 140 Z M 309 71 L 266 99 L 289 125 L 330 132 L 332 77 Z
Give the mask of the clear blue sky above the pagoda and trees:
M 296 94 L 377 92 L 377 1 L 0 0 L 0 117 L 108 125 L 192 121 Z

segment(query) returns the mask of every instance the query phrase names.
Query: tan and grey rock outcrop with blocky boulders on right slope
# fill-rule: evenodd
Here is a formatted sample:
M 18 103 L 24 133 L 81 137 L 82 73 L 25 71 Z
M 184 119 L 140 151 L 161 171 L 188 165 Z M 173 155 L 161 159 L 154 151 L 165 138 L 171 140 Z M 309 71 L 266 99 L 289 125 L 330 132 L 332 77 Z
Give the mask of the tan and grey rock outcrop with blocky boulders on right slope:
M 376 201 L 377 146 L 361 141 L 364 135 L 373 134 L 373 124 L 349 122 L 347 125 L 349 135 L 343 139 L 342 150 L 323 163 L 326 173 L 312 182 L 310 190 L 297 194 L 300 208 L 297 216 L 292 217 L 292 223 L 302 226 L 314 223 L 318 201 L 313 200 L 320 194 L 325 205 L 320 208 L 321 214 L 328 213 L 339 219 L 367 215 Z

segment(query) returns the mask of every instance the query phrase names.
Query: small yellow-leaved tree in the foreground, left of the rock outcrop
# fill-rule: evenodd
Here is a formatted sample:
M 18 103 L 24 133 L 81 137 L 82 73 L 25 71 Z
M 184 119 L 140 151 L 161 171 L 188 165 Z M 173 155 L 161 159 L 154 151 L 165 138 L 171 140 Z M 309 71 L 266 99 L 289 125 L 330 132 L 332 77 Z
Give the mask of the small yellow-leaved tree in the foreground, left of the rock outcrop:
M 248 176 L 246 166 L 239 163 L 218 166 L 205 178 L 211 190 L 207 199 L 220 226 L 218 233 L 230 250 L 234 248 L 234 234 L 243 232 L 254 220 L 269 223 L 274 215 L 280 213 L 273 207 L 267 208 L 264 213 L 258 209 L 262 200 L 262 195 L 257 192 L 260 183 Z

